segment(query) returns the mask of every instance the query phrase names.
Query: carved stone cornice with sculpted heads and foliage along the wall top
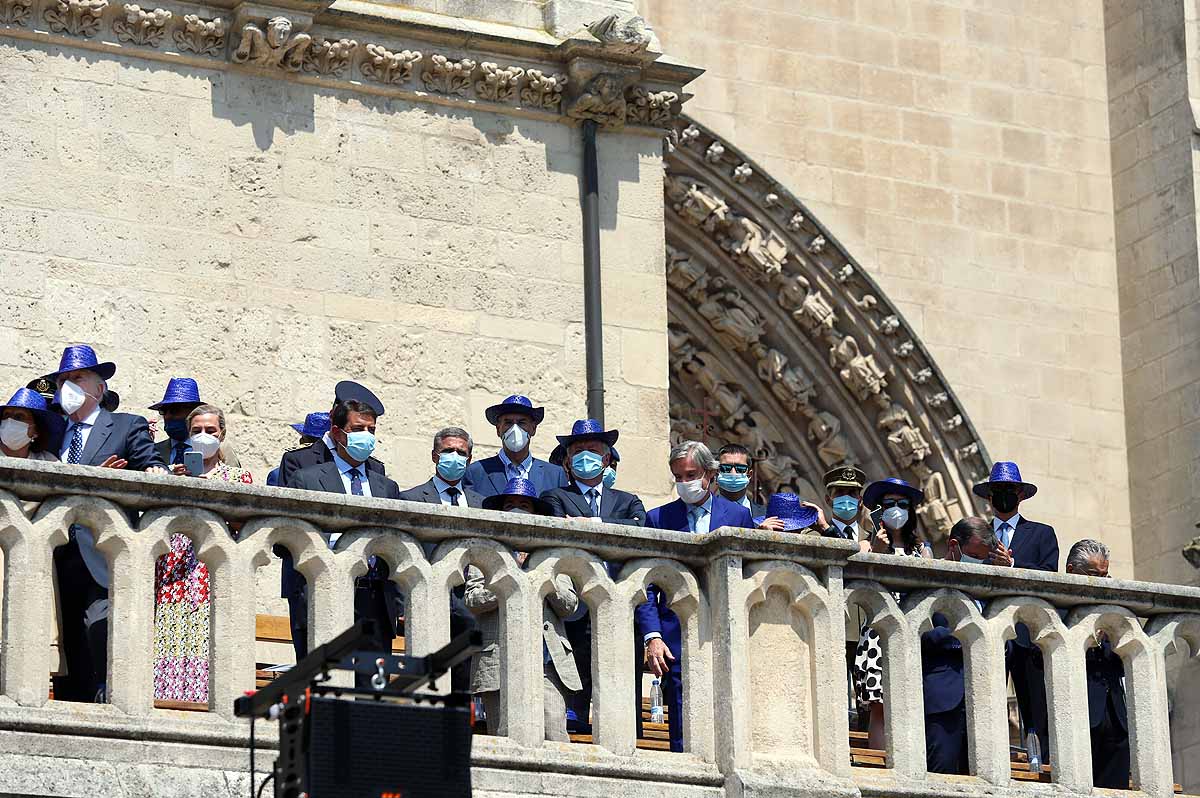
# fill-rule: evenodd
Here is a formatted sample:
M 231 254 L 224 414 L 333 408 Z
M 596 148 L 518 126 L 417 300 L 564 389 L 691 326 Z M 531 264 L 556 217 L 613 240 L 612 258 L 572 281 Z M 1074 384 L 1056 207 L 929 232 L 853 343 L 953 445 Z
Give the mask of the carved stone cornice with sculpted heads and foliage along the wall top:
M 0 37 L 32 38 L 204 68 L 470 106 L 564 124 L 661 134 L 701 71 L 660 61 L 637 19 L 605 18 L 565 41 L 499 30 L 466 34 L 348 0 L 0 0 Z M 349 11 L 347 10 L 349 8 Z M 371 8 L 376 8 L 372 13 Z M 364 79 L 365 78 L 365 79 Z

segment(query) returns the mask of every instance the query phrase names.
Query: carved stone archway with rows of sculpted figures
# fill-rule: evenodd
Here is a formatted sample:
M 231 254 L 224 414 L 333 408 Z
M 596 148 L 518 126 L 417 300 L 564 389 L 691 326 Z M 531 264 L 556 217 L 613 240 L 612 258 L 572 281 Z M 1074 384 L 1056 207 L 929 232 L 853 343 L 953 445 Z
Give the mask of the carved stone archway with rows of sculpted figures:
M 748 445 L 760 496 L 857 463 L 925 490 L 942 540 L 990 463 L 929 352 L 786 188 L 682 118 L 666 158 L 671 430 Z

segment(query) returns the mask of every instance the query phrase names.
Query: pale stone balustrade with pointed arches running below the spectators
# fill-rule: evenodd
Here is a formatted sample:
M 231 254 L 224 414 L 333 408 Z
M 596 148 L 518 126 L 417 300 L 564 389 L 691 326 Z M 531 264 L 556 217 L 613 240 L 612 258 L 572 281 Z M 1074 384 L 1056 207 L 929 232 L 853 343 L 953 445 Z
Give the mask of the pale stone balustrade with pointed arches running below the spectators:
M 232 521 L 242 524 L 236 541 Z M 52 550 L 74 522 L 96 532 L 113 574 L 106 706 L 47 696 Z M 336 551 L 323 532 L 344 533 Z M 211 574 L 209 713 L 156 709 L 152 700 L 155 559 L 174 533 L 194 541 Z M 130 773 L 148 779 L 160 768 L 180 786 L 154 794 L 199 794 L 196 774 L 208 772 L 218 785 L 208 794 L 245 794 L 247 725 L 233 702 L 254 686 L 256 570 L 276 544 L 308 580 L 312 642 L 350 625 L 353 580 L 370 554 L 394 564 L 408 596 L 413 653 L 449 640 L 446 594 L 463 568 L 485 572 L 502 602 L 508 734 L 475 740 L 479 794 L 1028 794 L 1038 787 L 1009 772 L 1004 641 L 1015 623 L 1045 654 L 1058 788 L 1091 790 L 1084 656 L 1104 630 L 1126 665 L 1134 784 L 1172 792 L 1164 656 L 1180 638 L 1200 650 L 1200 589 L 858 554 L 844 541 L 766 532 L 518 520 L 8 458 L 0 458 L 0 791 L 74 794 L 55 780 L 95 788 L 112 778 L 120 788 L 94 794 L 138 794 Z M 432 557 L 422 544 L 436 545 Z M 529 552 L 523 566 L 515 551 Z M 619 578 L 606 563 L 622 565 Z M 559 574 L 594 617 L 594 745 L 542 742 L 541 602 Z M 636 749 L 634 607 L 650 583 L 683 623 L 683 755 Z M 851 766 L 850 605 L 884 640 L 887 769 Z M 965 648 L 972 776 L 925 772 L 919 632 L 934 611 Z M 270 758 L 260 755 L 260 767 Z

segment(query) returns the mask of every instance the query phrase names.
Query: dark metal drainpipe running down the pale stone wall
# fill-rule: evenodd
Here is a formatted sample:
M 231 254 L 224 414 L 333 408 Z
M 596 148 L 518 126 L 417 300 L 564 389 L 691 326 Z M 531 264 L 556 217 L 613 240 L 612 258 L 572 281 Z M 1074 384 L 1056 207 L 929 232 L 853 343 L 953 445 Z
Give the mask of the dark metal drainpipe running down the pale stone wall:
M 587 349 L 588 416 L 604 424 L 604 311 L 600 304 L 600 163 L 598 125 L 583 122 L 583 342 Z

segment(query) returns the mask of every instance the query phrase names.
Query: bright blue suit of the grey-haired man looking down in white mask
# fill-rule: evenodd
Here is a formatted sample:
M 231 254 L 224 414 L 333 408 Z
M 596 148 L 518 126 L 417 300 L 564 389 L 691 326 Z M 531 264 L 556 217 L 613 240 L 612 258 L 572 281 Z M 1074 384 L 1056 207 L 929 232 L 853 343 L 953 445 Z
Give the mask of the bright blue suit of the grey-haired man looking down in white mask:
M 646 516 L 646 526 L 649 529 L 673 529 L 676 532 L 689 532 L 688 505 L 683 499 L 676 499 L 670 504 L 654 508 Z M 709 520 L 709 530 L 721 527 L 740 527 L 742 529 L 754 529 L 754 520 L 750 511 L 740 504 L 734 504 L 725 497 L 713 497 L 713 515 Z M 646 589 L 647 600 L 634 611 L 634 625 L 637 629 L 635 648 L 641 661 L 643 641 L 650 632 L 662 636 L 662 642 L 674 654 L 674 661 L 668 660 L 671 670 L 662 674 L 660 684 L 662 686 L 662 700 L 667 706 L 667 724 L 671 732 L 671 750 L 683 750 L 683 638 L 679 628 L 679 618 L 671 607 L 667 606 L 666 596 L 654 584 Z M 637 671 L 641 673 L 641 668 Z M 642 679 L 637 683 L 637 718 L 642 716 Z M 638 721 L 641 728 L 641 721 Z

